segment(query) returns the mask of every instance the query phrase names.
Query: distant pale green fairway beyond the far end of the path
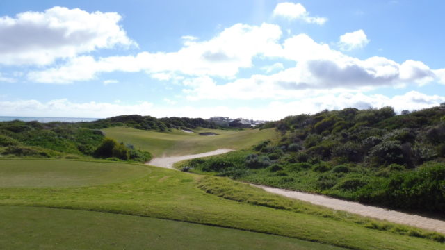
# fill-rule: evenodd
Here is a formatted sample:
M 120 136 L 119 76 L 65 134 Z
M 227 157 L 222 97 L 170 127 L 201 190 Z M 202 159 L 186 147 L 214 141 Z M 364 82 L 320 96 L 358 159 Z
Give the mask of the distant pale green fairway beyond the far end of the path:
M 105 135 L 118 142 L 133 144 L 136 149 L 149 151 L 153 156 L 177 156 L 204 153 L 216 149 L 243 149 L 264 140 L 278 137 L 272 129 L 245 129 L 243 131 L 197 128 L 196 133 L 179 130 L 172 132 L 143 131 L 135 128 L 105 128 Z M 202 136 L 199 133 L 213 132 L 218 135 Z

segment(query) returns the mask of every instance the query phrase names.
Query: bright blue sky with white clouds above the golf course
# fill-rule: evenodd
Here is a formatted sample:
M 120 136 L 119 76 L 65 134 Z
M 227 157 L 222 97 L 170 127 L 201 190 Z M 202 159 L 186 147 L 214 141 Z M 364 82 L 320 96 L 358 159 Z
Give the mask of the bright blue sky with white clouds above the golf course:
M 445 1 L 0 1 L 0 115 L 244 117 L 445 102 Z

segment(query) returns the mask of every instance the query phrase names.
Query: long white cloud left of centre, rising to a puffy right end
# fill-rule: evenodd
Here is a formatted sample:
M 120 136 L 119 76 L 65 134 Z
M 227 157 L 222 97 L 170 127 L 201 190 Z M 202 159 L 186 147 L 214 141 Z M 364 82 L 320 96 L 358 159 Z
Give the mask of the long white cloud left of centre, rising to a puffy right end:
M 220 76 L 233 78 L 240 68 L 252 67 L 254 56 L 277 54 L 277 41 L 282 31 L 274 24 L 250 26 L 235 24 L 211 40 L 196 42 L 188 39 L 177 52 L 138 53 L 136 56 L 92 56 L 71 58 L 66 65 L 29 73 L 29 79 L 39 83 L 72 83 L 95 78 L 101 72 L 147 72 L 161 76 Z M 160 74 L 163 73 L 163 74 Z

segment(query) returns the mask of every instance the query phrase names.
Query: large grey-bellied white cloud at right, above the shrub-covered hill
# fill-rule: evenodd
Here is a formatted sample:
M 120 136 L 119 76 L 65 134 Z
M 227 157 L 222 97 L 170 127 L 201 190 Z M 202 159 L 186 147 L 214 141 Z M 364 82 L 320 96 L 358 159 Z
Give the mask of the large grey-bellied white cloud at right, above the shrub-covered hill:
M 292 99 L 313 97 L 327 92 L 363 92 L 382 86 L 423 85 L 438 76 L 421 62 L 399 64 L 373 56 L 360 60 L 318 44 L 300 34 L 284 41 L 280 58 L 293 60 L 295 67 L 275 74 L 254 74 L 225 84 L 211 78 L 191 80 L 184 93 L 188 99 Z M 438 73 L 437 73 L 438 74 Z

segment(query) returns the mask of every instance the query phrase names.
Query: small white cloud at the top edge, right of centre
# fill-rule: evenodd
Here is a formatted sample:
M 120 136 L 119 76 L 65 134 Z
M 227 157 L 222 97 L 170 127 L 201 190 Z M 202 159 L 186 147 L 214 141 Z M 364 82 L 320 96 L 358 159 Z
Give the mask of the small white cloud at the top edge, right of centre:
M 284 17 L 289 20 L 300 19 L 309 24 L 322 25 L 327 22 L 326 17 L 311 17 L 301 3 L 278 3 L 273 10 L 273 16 Z

